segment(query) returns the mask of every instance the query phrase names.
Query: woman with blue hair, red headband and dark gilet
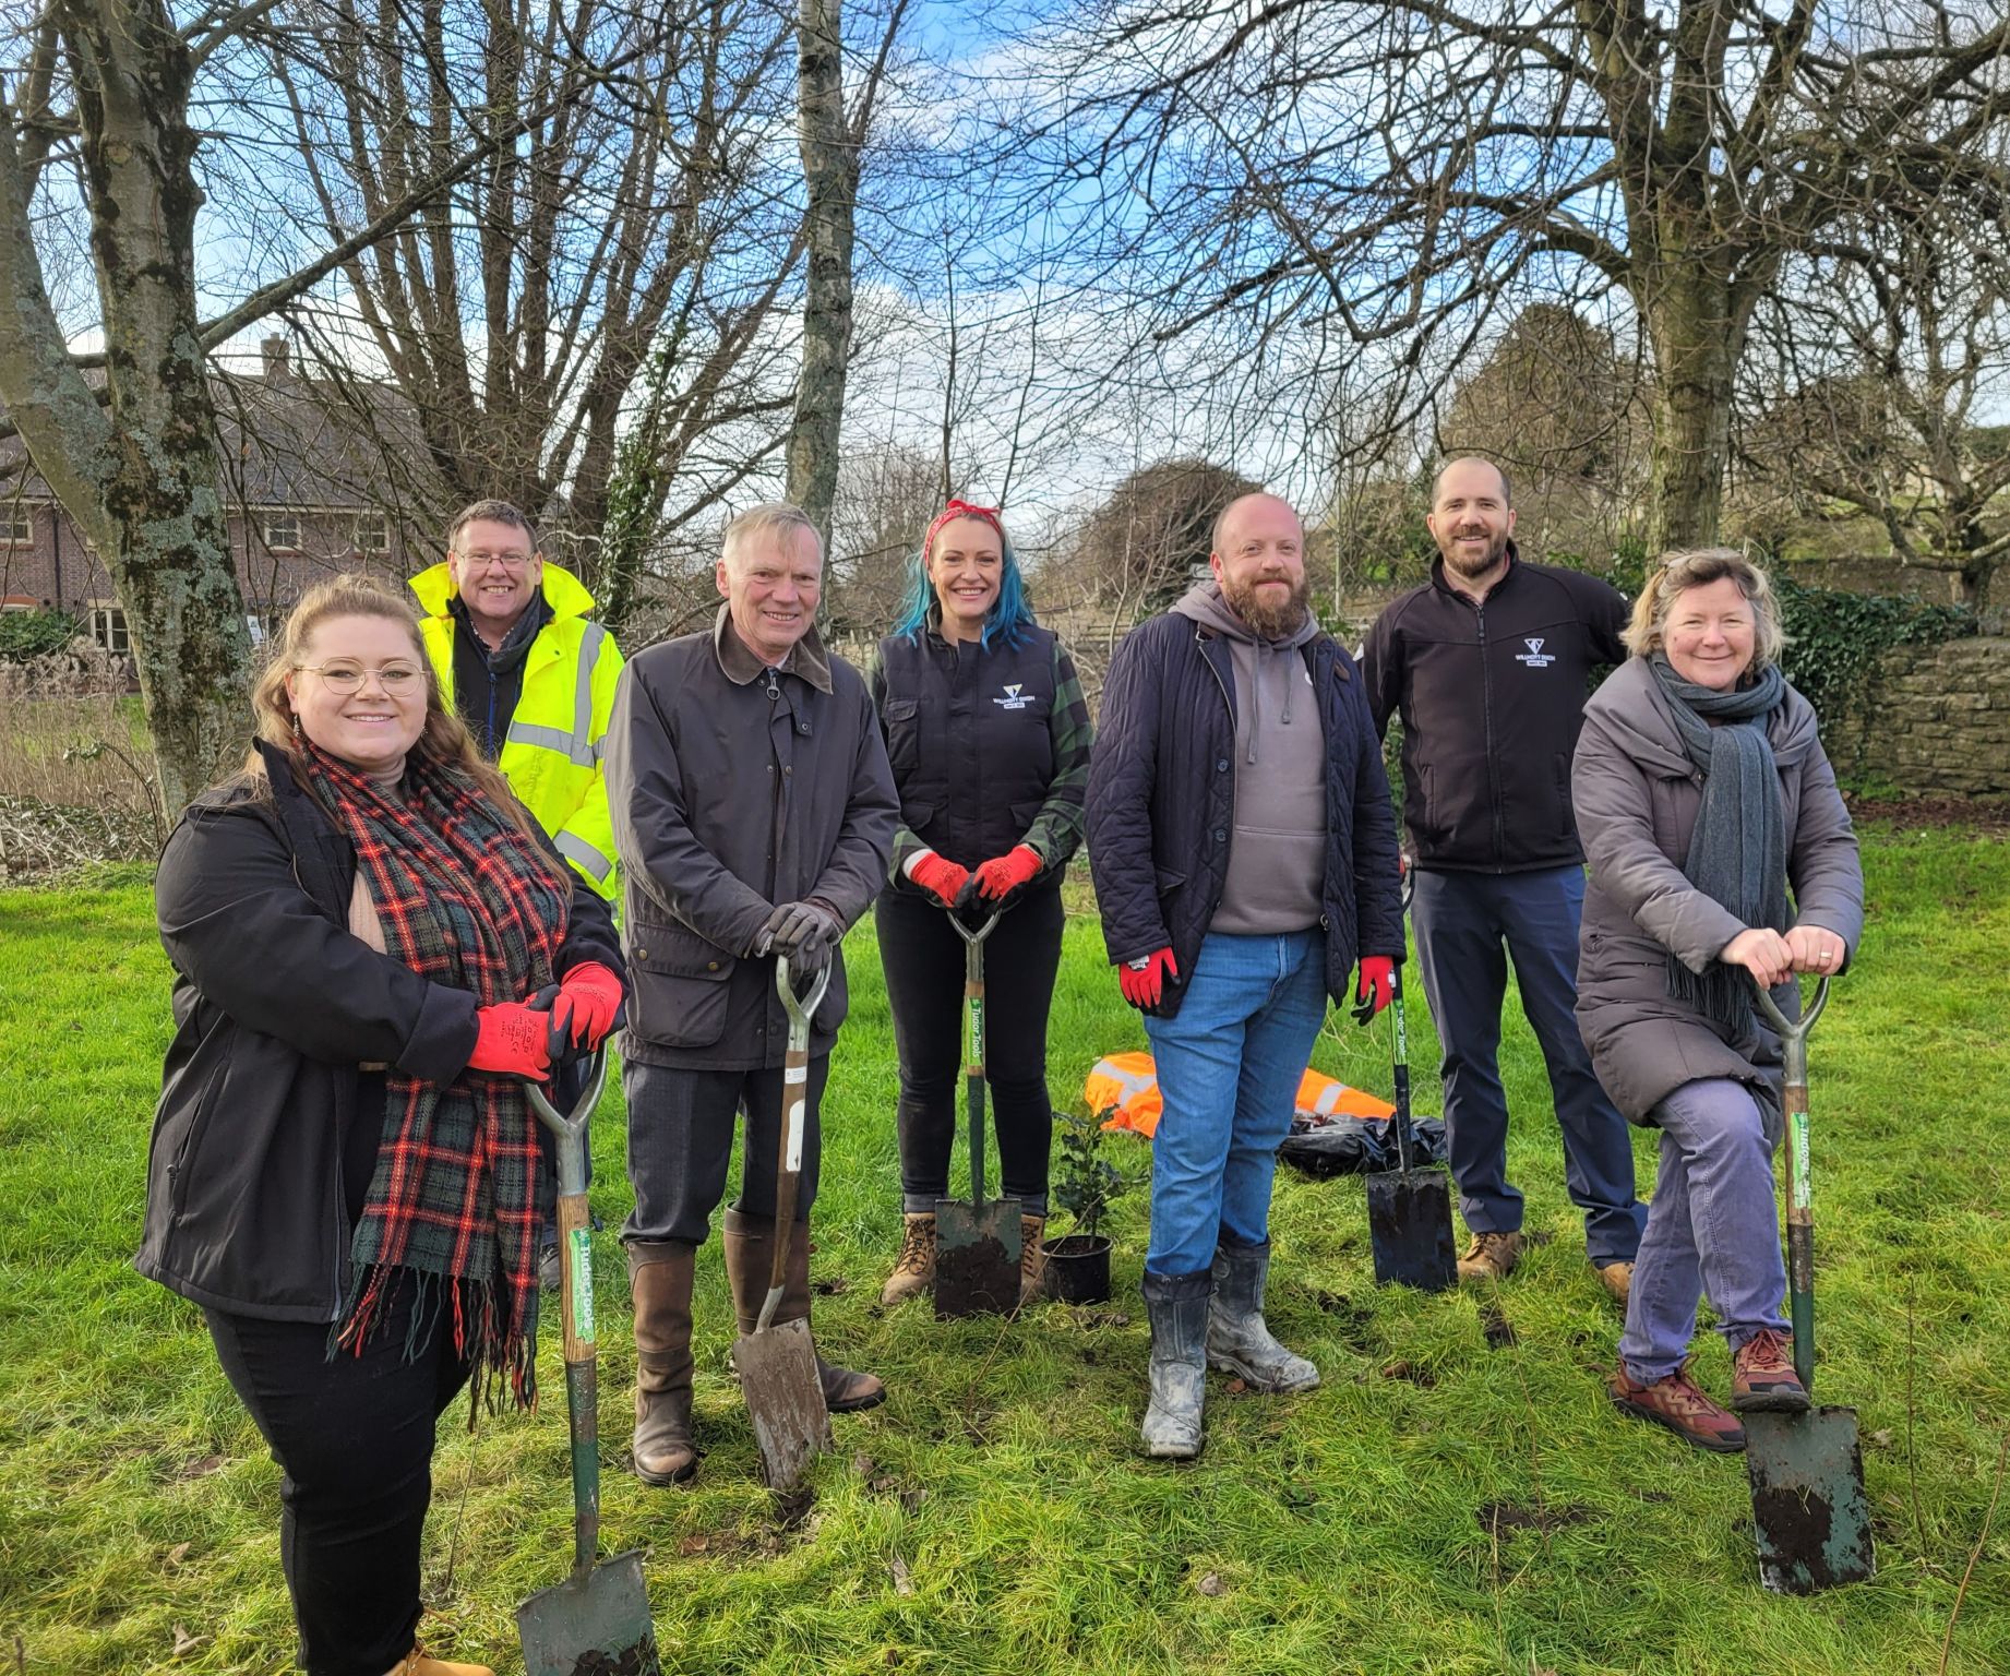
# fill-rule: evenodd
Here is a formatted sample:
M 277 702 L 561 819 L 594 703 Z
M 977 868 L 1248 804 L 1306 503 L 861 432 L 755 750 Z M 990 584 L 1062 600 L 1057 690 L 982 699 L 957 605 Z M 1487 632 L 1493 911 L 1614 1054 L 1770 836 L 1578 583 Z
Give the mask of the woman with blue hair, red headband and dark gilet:
M 892 888 L 874 912 L 900 1051 L 904 1234 L 880 1300 L 935 1284 L 963 1005 L 963 940 L 943 910 L 969 890 L 1011 908 L 985 942 L 985 1037 L 1003 1192 L 1021 1212 L 1025 1302 L 1043 1268 L 1047 1007 L 1061 963 L 1061 874 L 1081 842 L 1089 709 L 1067 647 L 1033 621 L 997 508 L 951 500 L 929 525 L 870 685 L 900 792 Z

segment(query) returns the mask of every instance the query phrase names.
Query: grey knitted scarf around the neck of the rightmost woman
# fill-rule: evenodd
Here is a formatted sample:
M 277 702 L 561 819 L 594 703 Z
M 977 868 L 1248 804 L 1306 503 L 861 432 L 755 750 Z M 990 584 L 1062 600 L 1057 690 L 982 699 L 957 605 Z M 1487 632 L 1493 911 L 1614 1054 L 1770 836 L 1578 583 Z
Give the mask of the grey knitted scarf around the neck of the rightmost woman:
M 1729 693 L 1674 673 L 1666 653 L 1648 659 L 1674 711 L 1682 750 L 1702 772 L 1702 808 L 1688 836 L 1682 874 L 1749 926 L 1787 930 L 1787 820 L 1767 719 L 1787 695 L 1775 665 Z M 1717 721 L 1719 725 L 1711 725 Z M 1696 975 L 1668 957 L 1668 993 L 1743 1035 L 1751 1029 L 1751 981 L 1723 961 Z

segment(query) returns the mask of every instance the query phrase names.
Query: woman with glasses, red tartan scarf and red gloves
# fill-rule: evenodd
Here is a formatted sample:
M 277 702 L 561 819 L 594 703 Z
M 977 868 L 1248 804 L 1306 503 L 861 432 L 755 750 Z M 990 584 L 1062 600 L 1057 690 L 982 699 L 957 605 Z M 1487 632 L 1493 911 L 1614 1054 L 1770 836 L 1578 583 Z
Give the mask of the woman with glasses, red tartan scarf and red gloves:
M 257 742 L 161 856 L 175 1039 L 137 1266 L 203 1306 L 283 1477 L 310 1676 L 470 1676 L 418 1642 L 434 1421 L 533 1399 L 523 1079 L 601 1045 L 605 902 L 440 705 L 364 579 L 287 619 Z

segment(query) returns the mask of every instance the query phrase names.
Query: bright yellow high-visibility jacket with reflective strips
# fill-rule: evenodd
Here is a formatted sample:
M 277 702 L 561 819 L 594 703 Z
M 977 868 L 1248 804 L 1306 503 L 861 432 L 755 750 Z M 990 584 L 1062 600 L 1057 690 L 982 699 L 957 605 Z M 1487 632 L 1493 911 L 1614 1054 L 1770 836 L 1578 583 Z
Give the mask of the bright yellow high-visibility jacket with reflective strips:
M 412 577 L 426 613 L 426 655 L 440 677 L 440 695 L 454 707 L 454 583 L 444 561 Z M 599 623 L 587 621 L 593 595 L 571 571 L 545 563 L 545 601 L 553 619 L 531 641 L 523 665 L 523 697 L 511 717 L 496 768 L 523 806 L 539 818 L 559 852 L 607 900 L 621 900 L 615 868 L 601 740 L 621 679 L 621 649 Z

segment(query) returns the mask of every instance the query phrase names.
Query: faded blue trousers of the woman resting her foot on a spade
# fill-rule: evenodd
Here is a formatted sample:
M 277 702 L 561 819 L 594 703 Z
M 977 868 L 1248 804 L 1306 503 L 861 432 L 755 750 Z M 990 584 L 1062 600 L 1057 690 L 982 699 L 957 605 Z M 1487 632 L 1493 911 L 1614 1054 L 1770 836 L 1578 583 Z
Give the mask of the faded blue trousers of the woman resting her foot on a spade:
M 1698 1292 L 1711 1294 L 1733 1350 L 1761 1326 L 1787 1330 L 1773 1145 L 1759 1103 L 1745 1083 L 1711 1077 L 1682 1083 L 1652 1115 L 1660 1180 L 1620 1334 L 1620 1360 L 1642 1385 L 1682 1365 Z

